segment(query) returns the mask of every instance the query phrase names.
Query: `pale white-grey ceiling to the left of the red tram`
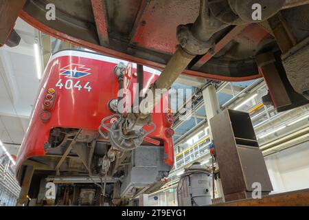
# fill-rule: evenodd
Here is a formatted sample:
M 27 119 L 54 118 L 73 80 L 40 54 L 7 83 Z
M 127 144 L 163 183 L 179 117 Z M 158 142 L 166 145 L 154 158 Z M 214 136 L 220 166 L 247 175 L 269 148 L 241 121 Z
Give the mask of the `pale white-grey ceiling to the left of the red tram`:
M 21 36 L 21 43 L 0 48 L 0 140 L 16 155 L 29 124 L 39 81 L 34 59 L 36 30 L 21 19 L 14 30 Z

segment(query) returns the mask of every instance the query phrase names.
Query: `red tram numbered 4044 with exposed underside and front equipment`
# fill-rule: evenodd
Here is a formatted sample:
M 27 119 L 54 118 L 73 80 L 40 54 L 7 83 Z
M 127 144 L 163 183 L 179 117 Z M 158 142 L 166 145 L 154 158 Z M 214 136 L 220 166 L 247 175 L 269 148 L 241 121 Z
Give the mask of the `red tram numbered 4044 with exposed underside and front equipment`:
M 119 88 L 134 99 L 135 71 L 92 52 L 63 50 L 50 58 L 16 162 L 19 205 L 124 205 L 165 184 L 174 163 L 171 113 L 152 113 L 141 144 L 128 151 L 113 148 L 108 135 L 123 115 L 115 113 Z M 143 87 L 159 74 L 144 67 Z

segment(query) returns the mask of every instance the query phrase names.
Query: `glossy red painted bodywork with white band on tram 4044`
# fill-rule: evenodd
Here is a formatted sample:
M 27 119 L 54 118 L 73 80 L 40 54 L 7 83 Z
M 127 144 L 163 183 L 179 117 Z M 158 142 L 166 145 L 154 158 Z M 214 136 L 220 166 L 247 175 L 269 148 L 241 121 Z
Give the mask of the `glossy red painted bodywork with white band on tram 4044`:
M 44 144 L 48 142 L 49 132 L 52 128 L 65 127 L 97 131 L 101 120 L 113 114 L 108 110 L 107 103 L 109 100 L 117 98 L 118 82 L 117 77 L 113 74 L 113 69 L 120 61 L 99 54 L 78 51 L 62 51 L 52 56 L 41 80 L 30 126 L 19 151 L 16 163 L 17 172 L 25 159 L 45 155 Z M 63 68 L 70 64 L 76 65 L 77 70 L 82 69 L 89 75 L 81 78 L 67 78 L 67 75 L 61 75 Z M 133 72 L 135 71 L 133 66 Z M 145 67 L 144 85 L 148 86 L 153 83 L 159 77 L 158 74 L 158 71 Z M 56 87 L 59 80 L 63 84 L 62 88 Z M 71 80 L 72 87 L 69 81 L 66 89 L 65 84 L 68 80 Z M 82 86 L 80 89 L 76 85 L 78 80 L 80 81 L 78 85 Z M 132 80 L 130 90 L 133 89 L 136 78 L 133 77 Z M 85 89 L 85 85 L 90 86 L 91 91 Z M 42 111 L 42 104 L 49 88 L 56 90 L 56 101 L 50 111 L 50 120 L 43 122 L 39 118 L 39 114 Z M 167 99 L 168 96 L 163 98 Z M 164 124 L 163 113 L 152 113 L 152 121 L 155 122 L 157 129 L 150 133 L 148 137 L 160 139 L 164 142 L 164 152 L 167 155 L 165 163 L 172 166 L 174 164 L 173 142 L 171 137 L 166 136 L 165 131 L 168 126 Z

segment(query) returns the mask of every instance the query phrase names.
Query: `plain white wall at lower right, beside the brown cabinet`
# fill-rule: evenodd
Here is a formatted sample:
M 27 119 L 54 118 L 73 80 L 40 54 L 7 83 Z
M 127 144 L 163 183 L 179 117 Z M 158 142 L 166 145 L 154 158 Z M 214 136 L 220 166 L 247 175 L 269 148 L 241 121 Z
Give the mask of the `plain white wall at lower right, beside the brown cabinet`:
M 309 188 L 309 142 L 265 157 L 273 193 Z

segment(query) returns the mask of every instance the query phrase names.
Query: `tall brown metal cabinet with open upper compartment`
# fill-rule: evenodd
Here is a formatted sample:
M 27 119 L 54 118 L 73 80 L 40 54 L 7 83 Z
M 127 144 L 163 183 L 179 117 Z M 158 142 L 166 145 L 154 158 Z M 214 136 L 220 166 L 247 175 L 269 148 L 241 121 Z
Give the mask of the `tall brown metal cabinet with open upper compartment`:
M 210 126 L 225 201 L 251 198 L 255 182 L 268 195 L 273 187 L 249 113 L 225 109 Z

